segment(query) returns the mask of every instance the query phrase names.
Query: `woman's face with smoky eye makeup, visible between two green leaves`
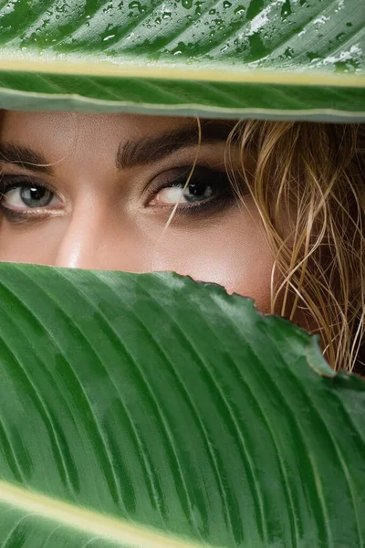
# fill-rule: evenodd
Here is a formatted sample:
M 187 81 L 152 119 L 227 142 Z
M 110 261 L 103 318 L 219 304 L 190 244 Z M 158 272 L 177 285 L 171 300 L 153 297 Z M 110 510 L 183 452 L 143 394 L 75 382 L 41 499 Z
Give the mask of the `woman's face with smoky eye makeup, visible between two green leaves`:
M 197 153 L 194 119 L 5 111 L 0 260 L 174 270 L 268 311 L 273 257 L 252 199 L 238 203 L 224 170 L 232 126 L 202 121 Z

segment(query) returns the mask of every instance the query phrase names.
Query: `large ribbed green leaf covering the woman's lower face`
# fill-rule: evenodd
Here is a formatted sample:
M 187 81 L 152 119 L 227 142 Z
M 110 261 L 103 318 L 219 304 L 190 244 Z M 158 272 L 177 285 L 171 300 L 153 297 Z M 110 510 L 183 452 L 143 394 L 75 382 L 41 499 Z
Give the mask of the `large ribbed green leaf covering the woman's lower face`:
M 289 321 L 3 263 L 0 338 L 2 548 L 364 546 L 365 384 Z

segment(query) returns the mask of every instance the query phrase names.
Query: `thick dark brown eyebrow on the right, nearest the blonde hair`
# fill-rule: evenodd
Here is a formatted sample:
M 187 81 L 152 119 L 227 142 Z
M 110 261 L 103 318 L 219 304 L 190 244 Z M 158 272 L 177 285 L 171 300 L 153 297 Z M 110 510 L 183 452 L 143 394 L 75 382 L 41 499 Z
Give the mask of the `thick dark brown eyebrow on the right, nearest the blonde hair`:
M 224 142 L 234 127 L 227 121 L 206 121 L 202 123 L 202 143 Z M 176 151 L 197 145 L 199 129 L 197 124 L 190 124 L 172 132 L 165 132 L 151 137 L 142 137 L 138 141 L 121 142 L 117 153 L 118 169 L 130 169 L 137 165 L 157 162 Z

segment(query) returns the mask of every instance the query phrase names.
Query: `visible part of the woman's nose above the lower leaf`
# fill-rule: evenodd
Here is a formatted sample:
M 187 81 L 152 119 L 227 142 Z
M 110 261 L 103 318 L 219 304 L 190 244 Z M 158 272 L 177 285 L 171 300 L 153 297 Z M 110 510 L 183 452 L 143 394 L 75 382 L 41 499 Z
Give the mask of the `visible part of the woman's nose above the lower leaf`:
M 77 205 L 70 214 L 68 227 L 59 243 L 55 266 L 102 269 L 99 262 L 105 221 L 102 207 L 93 207 L 87 202 Z

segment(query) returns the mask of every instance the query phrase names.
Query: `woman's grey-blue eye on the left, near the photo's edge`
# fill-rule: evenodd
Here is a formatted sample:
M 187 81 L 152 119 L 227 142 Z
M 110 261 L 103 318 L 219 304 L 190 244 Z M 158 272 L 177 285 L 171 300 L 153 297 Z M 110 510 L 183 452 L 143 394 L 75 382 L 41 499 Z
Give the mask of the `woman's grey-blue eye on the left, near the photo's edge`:
M 2 205 L 13 210 L 26 210 L 59 204 L 59 198 L 40 184 L 24 184 L 6 188 L 2 192 Z

